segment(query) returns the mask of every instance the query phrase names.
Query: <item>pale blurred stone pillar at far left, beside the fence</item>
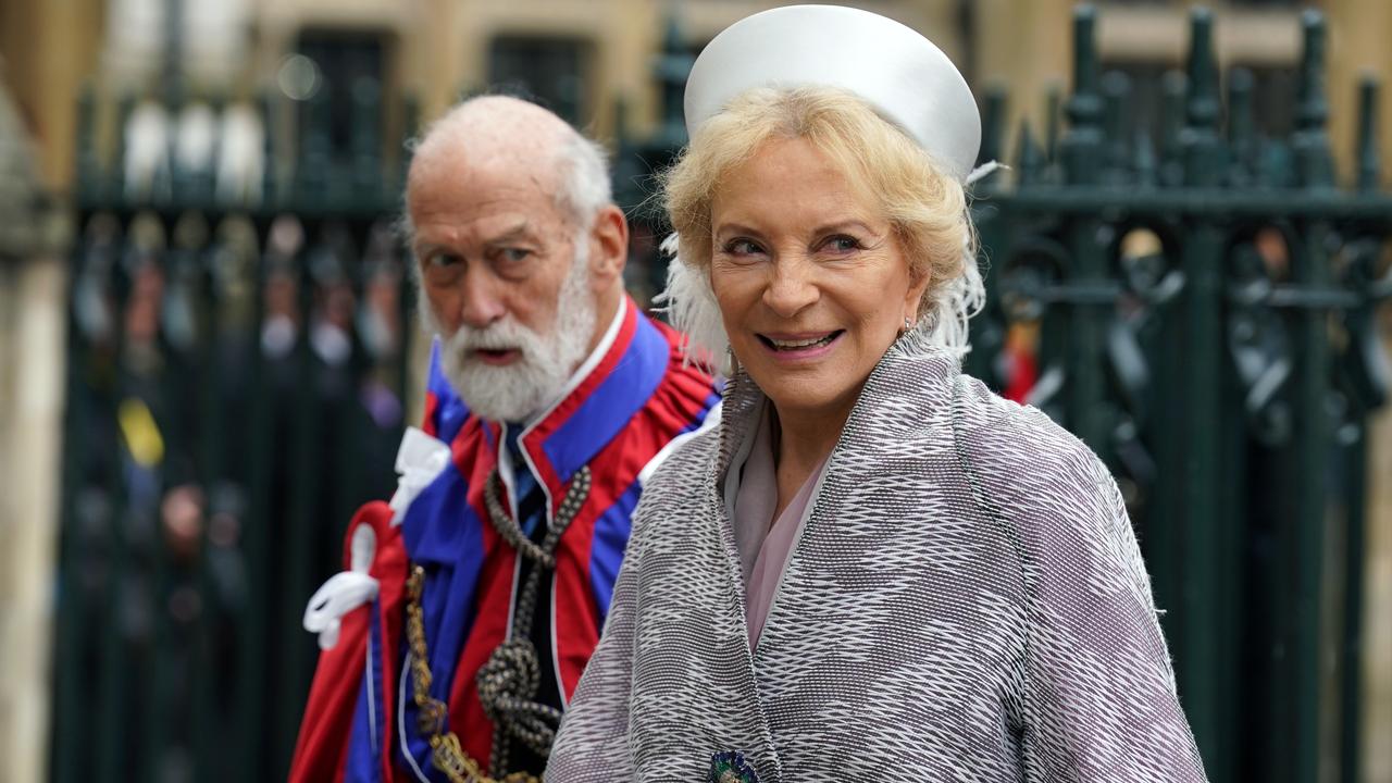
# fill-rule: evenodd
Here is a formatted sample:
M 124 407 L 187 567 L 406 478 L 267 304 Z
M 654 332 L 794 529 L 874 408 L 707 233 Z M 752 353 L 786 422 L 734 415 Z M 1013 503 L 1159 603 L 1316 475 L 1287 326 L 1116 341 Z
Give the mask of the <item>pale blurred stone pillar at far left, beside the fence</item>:
M 43 780 L 67 284 L 28 134 L 0 85 L 0 780 Z

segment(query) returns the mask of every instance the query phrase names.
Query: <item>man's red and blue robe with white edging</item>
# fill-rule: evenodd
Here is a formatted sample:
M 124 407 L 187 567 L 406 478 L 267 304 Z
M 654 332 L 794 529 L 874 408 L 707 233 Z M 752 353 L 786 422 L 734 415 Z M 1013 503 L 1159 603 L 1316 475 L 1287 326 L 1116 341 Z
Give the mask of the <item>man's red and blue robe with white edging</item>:
M 683 364 L 681 336 L 631 300 L 622 308 L 606 334 L 607 347 L 601 343 L 587 362 L 593 369 L 519 439 L 547 492 L 548 518 L 571 476 L 583 465 L 592 472 L 589 497 L 558 542 L 551 580 L 553 648 L 541 660 L 553 663 L 562 702 L 599 642 L 644 468 L 718 415 L 711 415 L 718 385 Z M 464 751 L 483 765 L 489 761 L 493 723 L 479 702 L 475 674 L 508 637 L 521 589 L 518 555 L 493 529 L 483 502 L 504 433 L 501 425 L 469 414 L 440 373 L 437 355 L 425 419 L 426 433 L 450 444 L 451 465 L 415 497 L 400 525 L 380 502 L 354 517 L 345 568 L 355 531 L 370 525 L 376 549 L 367 573 L 380 589 L 344 614 L 337 644 L 319 658 L 291 780 L 444 780 L 416 730 L 413 683 L 401 672 L 412 563 L 426 571 L 422 609 L 432 695 L 448 704 L 450 729 Z

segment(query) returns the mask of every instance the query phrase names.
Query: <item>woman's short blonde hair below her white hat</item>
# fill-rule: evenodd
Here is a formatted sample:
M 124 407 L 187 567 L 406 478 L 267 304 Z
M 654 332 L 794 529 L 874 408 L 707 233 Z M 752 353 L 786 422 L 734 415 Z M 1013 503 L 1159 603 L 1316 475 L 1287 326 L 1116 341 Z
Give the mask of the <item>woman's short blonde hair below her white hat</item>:
M 976 268 L 976 233 L 963 184 L 944 174 L 908 134 L 853 93 L 825 86 L 754 88 L 707 120 L 663 176 L 667 215 L 677 230 L 678 263 L 709 288 L 711 201 L 721 177 L 775 139 L 806 139 L 878 202 L 909 259 L 915 279 L 928 276 L 919 301 L 919 330 L 934 344 L 966 351 L 966 320 L 984 301 Z M 678 326 L 689 311 L 689 281 L 674 269 L 668 302 Z M 706 308 L 709 309 L 709 308 Z M 697 330 L 702 325 L 690 325 Z M 695 339 L 695 337 L 693 337 Z M 722 351 L 724 346 L 706 346 Z

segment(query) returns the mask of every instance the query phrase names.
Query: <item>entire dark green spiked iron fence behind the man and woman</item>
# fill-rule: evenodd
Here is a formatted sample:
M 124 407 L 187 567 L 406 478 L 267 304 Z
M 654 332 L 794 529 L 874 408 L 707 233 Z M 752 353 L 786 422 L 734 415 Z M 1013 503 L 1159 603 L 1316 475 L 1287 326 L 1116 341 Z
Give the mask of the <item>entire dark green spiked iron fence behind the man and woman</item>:
M 1240 71 L 1221 99 L 1201 11 L 1165 135 L 1132 135 L 1091 26 L 1079 11 L 1066 132 L 1040 145 L 1026 130 L 1015 185 L 980 188 L 991 302 L 969 369 L 1116 474 L 1212 780 L 1315 780 L 1322 759 L 1352 782 L 1366 422 L 1386 394 L 1377 308 L 1392 295 L 1377 86 L 1360 88 L 1357 185 L 1340 191 L 1318 17 L 1281 139 L 1253 125 Z M 689 57 L 668 38 L 674 86 Z M 338 570 L 352 510 L 394 488 L 418 394 L 393 234 L 405 160 L 380 153 L 400 146 L 383 145 L 376 85 L 352 95 L 347 159 L 310 104 L 294 148 L 258 142 L 258 187 L 177 160 L 132 177 L 135 139 L 103 164 L 84 103 L 57 780 L 284 776 L 315 656 L 305 600 Z M 1002 102 L 986 99 L 987 159 Z M 681 144 L 670 103 L 657 138 L 619 142 L 629 206 Z M 281 109 L 242 116 L 270 128 Z M 639 217 L 631 281 L 650 291 L 661 228 Z

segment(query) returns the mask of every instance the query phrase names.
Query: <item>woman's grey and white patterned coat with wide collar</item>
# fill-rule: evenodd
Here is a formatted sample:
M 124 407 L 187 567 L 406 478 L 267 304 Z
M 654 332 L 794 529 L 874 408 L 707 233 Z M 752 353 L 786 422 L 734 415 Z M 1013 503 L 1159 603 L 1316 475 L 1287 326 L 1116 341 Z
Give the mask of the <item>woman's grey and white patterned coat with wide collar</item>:
M 1204 780 L 1116 485 L 1044 414 L 917 334 L 871 373 L 757 646 L 724 474 L 763 396 L 633 515 L 548 783 Z

